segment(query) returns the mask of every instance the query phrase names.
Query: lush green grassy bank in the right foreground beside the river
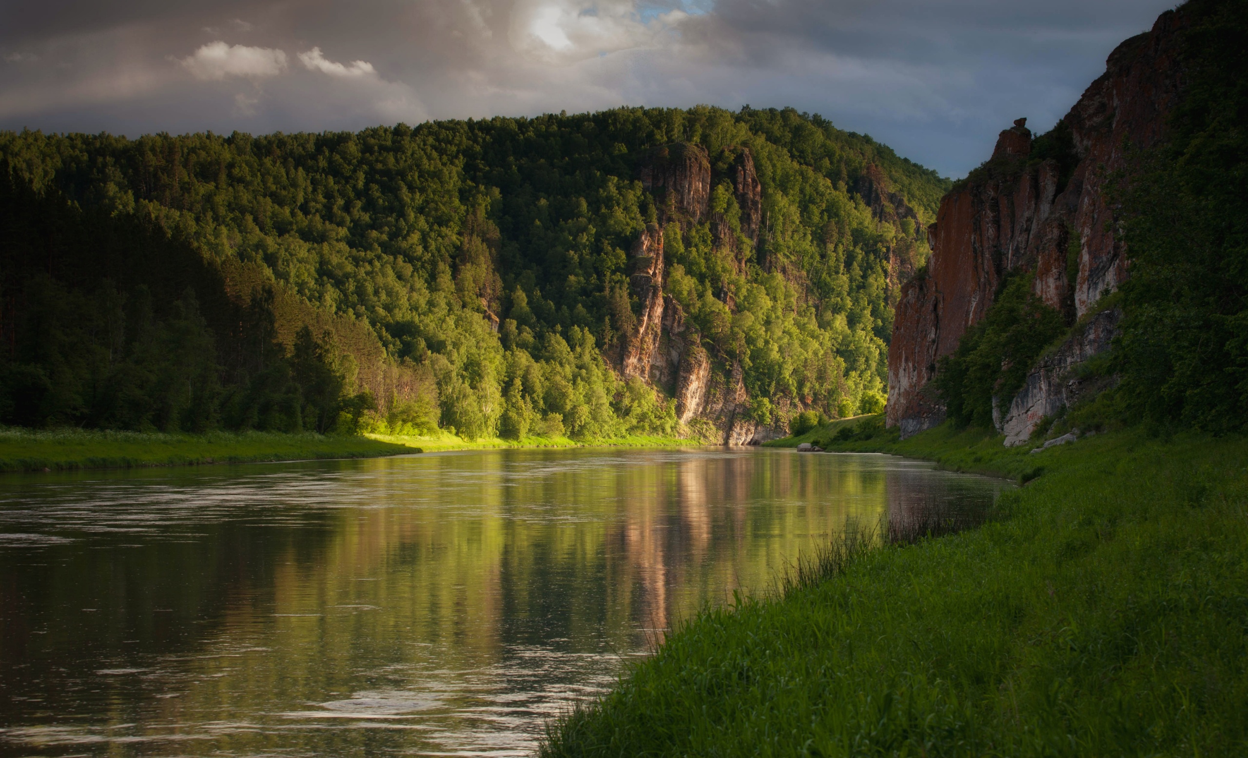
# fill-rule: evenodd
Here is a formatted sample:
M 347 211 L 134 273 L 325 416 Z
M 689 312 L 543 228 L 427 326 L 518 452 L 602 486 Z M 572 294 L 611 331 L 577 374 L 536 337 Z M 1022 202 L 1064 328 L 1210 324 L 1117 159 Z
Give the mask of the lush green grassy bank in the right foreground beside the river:
M 1248 441 L 876 443 L 1045 471 L 980 528 L 701 613 L 543 754 L 1248 754 Z

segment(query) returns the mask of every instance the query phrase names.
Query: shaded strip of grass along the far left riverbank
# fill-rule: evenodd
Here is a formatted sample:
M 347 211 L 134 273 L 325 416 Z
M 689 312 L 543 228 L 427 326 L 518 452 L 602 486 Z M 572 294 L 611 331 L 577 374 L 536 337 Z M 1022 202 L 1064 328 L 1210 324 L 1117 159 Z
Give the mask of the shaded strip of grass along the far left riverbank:
M 363 458 L 421 452 L 364 437 L 211 432 L 161 435 L 0 428 L 0 471 L 136 468 L 308 458 Z

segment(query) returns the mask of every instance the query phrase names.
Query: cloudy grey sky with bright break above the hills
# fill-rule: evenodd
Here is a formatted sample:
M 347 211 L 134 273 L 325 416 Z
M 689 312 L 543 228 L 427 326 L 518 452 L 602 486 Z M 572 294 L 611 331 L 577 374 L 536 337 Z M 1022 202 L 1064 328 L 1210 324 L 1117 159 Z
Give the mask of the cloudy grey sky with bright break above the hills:
M 792 106 L 945 176 L 1173 0 L 0 0 L 0 129 L 358 130 Z

